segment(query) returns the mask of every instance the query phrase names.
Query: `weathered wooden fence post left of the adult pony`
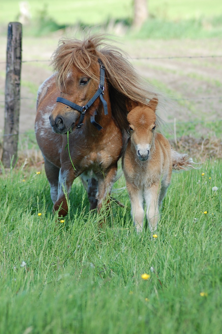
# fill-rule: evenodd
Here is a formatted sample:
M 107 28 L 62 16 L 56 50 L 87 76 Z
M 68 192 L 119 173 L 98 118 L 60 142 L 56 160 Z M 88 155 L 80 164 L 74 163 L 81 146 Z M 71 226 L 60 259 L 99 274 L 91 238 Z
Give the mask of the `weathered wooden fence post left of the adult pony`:
M 10 22 L 8 25 L 7 63 L 5 81 L 5 125 L 3 139 L 2 163 L 10 167 L 17 159 L 19 112 L 20 112 L 20 78 L 22 61 L 22 25 Z

